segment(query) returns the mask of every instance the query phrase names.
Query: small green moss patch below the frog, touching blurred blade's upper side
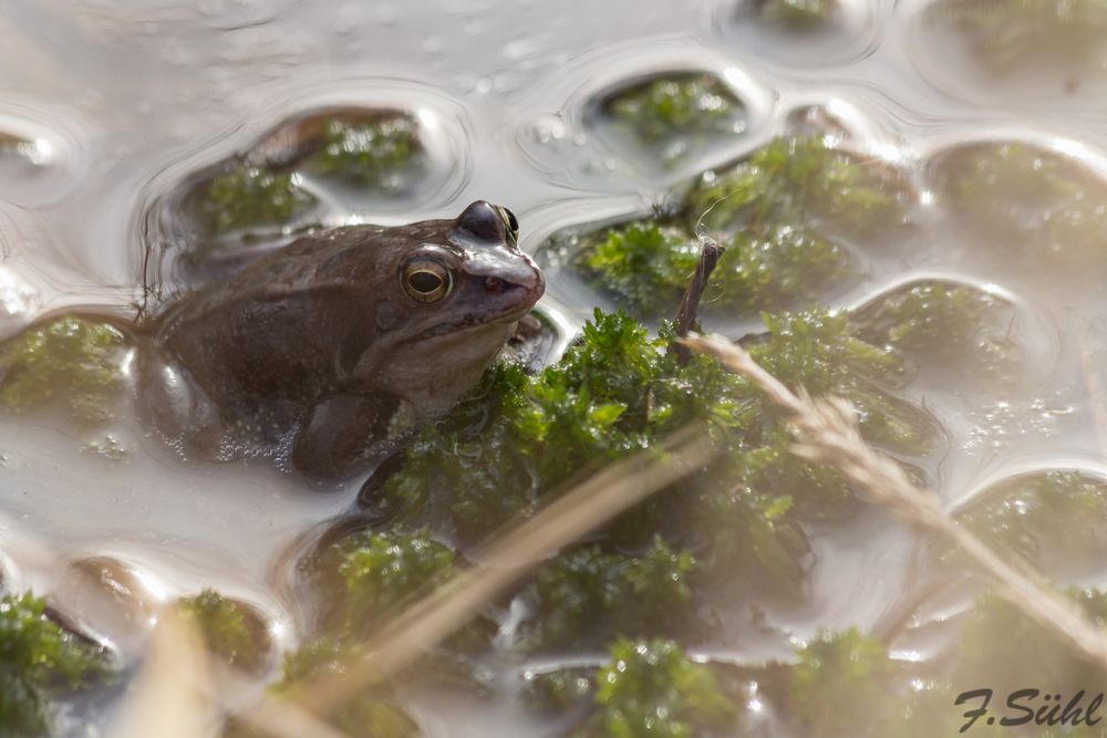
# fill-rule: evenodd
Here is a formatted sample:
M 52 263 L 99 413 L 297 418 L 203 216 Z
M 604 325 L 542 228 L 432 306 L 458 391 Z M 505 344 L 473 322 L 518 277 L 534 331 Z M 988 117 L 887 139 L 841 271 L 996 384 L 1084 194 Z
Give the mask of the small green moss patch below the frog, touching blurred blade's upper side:
M 423 533 L 352 536 L 340 544 L 342 628 L 361 633 L 382 615 L 453 572 L 454 552 Z

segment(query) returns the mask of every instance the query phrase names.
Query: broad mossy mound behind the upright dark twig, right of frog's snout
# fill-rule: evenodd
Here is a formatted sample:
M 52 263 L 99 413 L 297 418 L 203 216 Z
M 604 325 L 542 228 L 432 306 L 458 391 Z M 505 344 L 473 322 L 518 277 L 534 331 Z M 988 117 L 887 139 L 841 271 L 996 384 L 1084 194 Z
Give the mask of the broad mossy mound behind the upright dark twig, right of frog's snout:
M 699 177 L 666 214 L 562 235 L 552 248 L 634 315 L 666 315 L 708 232 L 726 247 L 704 298 L 711 314 L 808 308 L 856 282 L 849 241 L 908 221 L 913 194 L 893 168 L 825 135 L 780 137 Z

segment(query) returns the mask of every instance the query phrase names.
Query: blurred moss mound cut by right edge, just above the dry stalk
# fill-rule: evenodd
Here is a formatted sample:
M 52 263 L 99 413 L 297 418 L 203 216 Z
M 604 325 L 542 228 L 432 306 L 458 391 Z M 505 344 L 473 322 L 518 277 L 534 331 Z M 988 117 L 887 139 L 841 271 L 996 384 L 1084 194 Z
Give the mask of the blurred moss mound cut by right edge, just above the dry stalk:
M 1087 570 L 1105 550 L 1107 481 L 1079 471 L 1017 477 L 983 492 L 958 520 L 1039 570 Z

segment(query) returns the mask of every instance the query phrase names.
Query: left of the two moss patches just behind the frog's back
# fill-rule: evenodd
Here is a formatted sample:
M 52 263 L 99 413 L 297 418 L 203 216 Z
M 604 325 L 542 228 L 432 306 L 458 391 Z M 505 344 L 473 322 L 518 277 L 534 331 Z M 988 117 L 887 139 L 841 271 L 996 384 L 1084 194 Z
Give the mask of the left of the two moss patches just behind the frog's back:
M 242 166 L 199 185 L 192 210 L 215 236 L 240 230 L 279 231 L 318 205 L 289 171 Z

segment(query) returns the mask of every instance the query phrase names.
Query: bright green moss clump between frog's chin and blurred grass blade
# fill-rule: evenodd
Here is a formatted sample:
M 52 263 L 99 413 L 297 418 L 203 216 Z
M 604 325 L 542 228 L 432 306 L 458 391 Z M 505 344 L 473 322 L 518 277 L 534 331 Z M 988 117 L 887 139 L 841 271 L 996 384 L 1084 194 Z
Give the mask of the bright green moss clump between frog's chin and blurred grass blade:
M 385 495 L 416 514 L 448 496 L 457 532 L 473 541 L 590 464 L 648 448 L 693 419 L 725 434 L 744 382 L 701 357 L 681 366 L 665 345 L 624 315 L 597 312 L 541 374 L 494 370 L 474 401 L 422 434 Z

